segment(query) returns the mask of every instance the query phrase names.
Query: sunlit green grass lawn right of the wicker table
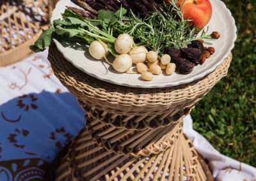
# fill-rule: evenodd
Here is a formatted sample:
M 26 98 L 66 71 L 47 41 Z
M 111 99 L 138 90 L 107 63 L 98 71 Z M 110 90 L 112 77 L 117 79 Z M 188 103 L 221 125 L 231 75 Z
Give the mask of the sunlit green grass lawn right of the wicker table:
M 228 76 L 196 105 L 194 128 L 218 151 L 256 166 L 256 0 L 223 0 L 238 39 Z

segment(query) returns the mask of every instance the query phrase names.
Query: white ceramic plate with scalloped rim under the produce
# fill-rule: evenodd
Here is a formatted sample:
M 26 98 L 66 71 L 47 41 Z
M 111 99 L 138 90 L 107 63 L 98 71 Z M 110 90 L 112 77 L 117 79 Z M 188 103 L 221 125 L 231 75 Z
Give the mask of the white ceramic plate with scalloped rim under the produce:
M 221 38 L 212 41 L 212 46 L 216 49 L 216 53 L 210 59 L 207 59 L 204 65 L 196 66 L 189 75 L 179 75 L 177 73 L 174 73 L 172 76 L 158 75 L 154 76 L 154 80 L 151 82 L 144 82 L 138 74 L 117 73 L 109 64 L 96 61 L 88 54 L 88 48 L 86 48 L 85 44 L 70 43 L 68 45 L 67 42 L 59 42 L 57 40 L 54 40 L 54 43 L 56 43 L 58 50 L 60 50 L 65 59 L 70 61 L 76 68 L 106 82 L 141 88 L 172 87 L 193 82 L 203 78 L 220 66 L 234 48 L 234 41 L 237 38 L 235 20 L 225 4 L 220 0 L 211 0 L 211 3 L 213 11 L 211 21 L 208 24 L 209 33 L 218 31 L 221 34 Z M 52 13 L 52 20 L 61 18 L 61 13 L 65 11 L 65 6 L 79 8 L 70 0 L 61 0 Z M 108 71 L 106 71 L 106 68 L 108 68 Z

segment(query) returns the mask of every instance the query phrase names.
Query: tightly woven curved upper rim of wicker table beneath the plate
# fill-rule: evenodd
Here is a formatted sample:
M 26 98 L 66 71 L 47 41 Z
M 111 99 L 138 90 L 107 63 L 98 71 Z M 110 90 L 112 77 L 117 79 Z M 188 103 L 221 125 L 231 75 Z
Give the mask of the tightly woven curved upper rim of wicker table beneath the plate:
M 163 89 L 134 89 L 97 80 L 74 68 L 55 45 L 51 46 L 48 58 L 61 83 L 93 117 L 106 114 L 102 122 L 115 127 L 141 130 L 168 126 L 173 120 L 179 120 L 188 113 L 227 75 L 232 55 L 201 80 Z

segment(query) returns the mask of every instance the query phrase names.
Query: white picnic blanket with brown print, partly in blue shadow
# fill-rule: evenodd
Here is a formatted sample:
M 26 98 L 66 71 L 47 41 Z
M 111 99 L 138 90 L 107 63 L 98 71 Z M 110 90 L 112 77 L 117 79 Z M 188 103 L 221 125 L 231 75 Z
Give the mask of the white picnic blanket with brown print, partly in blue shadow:
M 85 113 L 54 76 L 47 51 L 0 68 L 0 85 L 0 180 L 44 180 L 47 166 L 84 127 Z M 192 123 L 186 117 L 184 131 L 216 180 L 256 180 L 255 168 L 221 155 Z

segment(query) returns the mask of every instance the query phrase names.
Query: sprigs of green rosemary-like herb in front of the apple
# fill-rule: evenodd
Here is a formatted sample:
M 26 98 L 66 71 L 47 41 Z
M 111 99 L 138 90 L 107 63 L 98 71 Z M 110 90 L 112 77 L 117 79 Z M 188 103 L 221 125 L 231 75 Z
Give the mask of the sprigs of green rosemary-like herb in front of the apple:
M 184 20 L 180 7 L 174 1 L 171 5 L 165 4 L 164 10 L 151 12 L 146 18 L 134 13 L 130 17 L 119 17 L 122 31 L 136 38 L 137 45 L 145 45 L 162 55 L 164 48 L 180 49 L 188 47 L 193 40 L 211 39 L 207 31 L 198 36 L 198 29 L 191 29 L 191 20 Z M 114 31 L 119 31 L 119 27 Z

